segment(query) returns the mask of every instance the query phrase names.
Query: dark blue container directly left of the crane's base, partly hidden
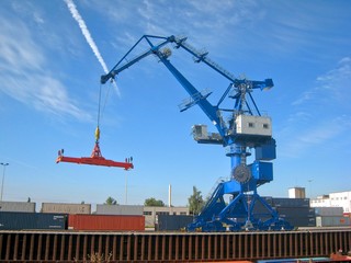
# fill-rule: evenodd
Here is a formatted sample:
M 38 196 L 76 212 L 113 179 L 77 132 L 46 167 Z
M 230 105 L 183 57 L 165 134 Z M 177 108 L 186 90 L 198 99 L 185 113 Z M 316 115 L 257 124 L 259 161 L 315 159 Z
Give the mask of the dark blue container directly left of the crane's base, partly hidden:
M 193 221 L 193 216 L 157 215 L 155 229 L 158 231 L 179 231 Z

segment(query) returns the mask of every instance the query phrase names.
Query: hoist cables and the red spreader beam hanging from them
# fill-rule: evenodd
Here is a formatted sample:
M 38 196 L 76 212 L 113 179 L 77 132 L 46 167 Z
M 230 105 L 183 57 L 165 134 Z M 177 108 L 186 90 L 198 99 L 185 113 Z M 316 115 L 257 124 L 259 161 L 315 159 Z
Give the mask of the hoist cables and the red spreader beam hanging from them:
M 105 100 L 106 101 L 106 100 Z M 133 169 L 133 158 L 126 158 L 124 162 L 117 162 L 113 160 L 107 160 L 102 157 L 99 140 L 100 140 L 100 117 L 101 117 L 101 84 L 99 92 L 99 108 L 98 108 L 98 126 L 95 128 L 95 145 L 90 157 L 65 157 L 64 149 L 58 151 L 58 157 L 56 163 L 58 162 L 72 162 L 78 164 L 91 164 L 91 165 L 102 165 L 102 167 L 118 167 L 124 168 L 124 170 Z

